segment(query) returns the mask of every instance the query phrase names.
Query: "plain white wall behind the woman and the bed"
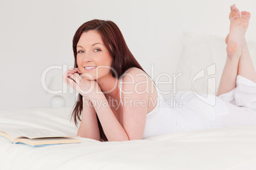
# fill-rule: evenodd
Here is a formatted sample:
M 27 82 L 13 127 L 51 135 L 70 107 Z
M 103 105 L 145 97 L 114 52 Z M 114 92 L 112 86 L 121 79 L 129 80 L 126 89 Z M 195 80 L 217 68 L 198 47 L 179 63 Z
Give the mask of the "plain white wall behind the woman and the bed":
M 41 87 L 41 74 L 50 65 L 73 65 L 73 35 L 84 22 L 112 20 L 148 74 L 152 64 L 155 75 L 171 74 L 181 53 L 182 31 L 226 36 L 229 6 L 234 3 L 251 12 L 246 38 L 255 40 L 253 0 L 1 0 L 0 110 L 49 107 L 52 95 L 46 95 Z M 52 75 L 62 74 L 53 70 L 46 75 L 46 82 Z

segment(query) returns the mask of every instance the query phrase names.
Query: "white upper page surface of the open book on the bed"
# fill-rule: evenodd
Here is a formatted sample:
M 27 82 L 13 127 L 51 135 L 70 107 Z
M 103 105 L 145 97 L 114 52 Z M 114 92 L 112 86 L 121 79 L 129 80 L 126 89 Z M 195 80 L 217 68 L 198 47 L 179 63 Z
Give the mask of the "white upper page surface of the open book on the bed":
M 66 136 L 60 133 L 55 133 L 47 129 L 39 129 L 39 128 L 12 129 L 12 128 L 0 127 L 0 131 L 4 131 L 5 133 L 9 134 L 13 140 L 22 136 L 27 138 L 73 137 L 73 136 Z

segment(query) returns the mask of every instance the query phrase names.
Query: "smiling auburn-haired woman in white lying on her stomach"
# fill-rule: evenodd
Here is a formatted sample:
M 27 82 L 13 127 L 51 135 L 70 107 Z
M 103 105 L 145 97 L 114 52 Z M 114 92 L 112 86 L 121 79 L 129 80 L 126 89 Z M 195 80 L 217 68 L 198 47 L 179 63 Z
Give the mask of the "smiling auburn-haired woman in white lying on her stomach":
M 189 92 L 176 94 L 182 107 L 159 105 L 162 96 L 132 56 L 117 25 L 103 20 L 83 23 L 73 39 L 75 69 L 63 76 L 64 82 L 80 93 L 73 110 L 76 125 L 81 121 L 77 134 L 101 141 L 125 141 L 255 125 L 256 100 L 248 101 L 248 96 L 250 90 L 255 93 L 256 73 L 245 42 L 250 13 L 240 14 L 233 5 L 229 18 L 227 62 L 214 107 Z

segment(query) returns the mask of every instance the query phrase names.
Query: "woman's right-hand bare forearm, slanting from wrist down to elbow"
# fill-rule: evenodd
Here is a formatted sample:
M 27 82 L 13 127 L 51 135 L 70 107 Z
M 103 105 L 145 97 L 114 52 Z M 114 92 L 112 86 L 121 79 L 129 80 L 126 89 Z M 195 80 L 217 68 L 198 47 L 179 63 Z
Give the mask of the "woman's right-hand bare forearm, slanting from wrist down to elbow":
M 108 141 L 129 140 L 129 136 L 113 114 L 104 94 L 98 93 L 96 96 L 94 96 L 92 103 Z

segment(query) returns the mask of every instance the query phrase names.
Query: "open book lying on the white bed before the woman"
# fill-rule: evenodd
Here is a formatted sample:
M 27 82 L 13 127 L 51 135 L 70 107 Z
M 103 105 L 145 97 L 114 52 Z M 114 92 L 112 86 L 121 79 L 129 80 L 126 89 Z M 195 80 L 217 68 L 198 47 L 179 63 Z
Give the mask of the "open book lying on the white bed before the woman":
M 22 143 L 32 147 L 41 147 L 45 145 L 57 145 L 64 143 L 81 143 L 81 140 L 55 133 L 47 129 L 36 128 L 0 128 L 0 136 L 7 138 L 11 143 Z

